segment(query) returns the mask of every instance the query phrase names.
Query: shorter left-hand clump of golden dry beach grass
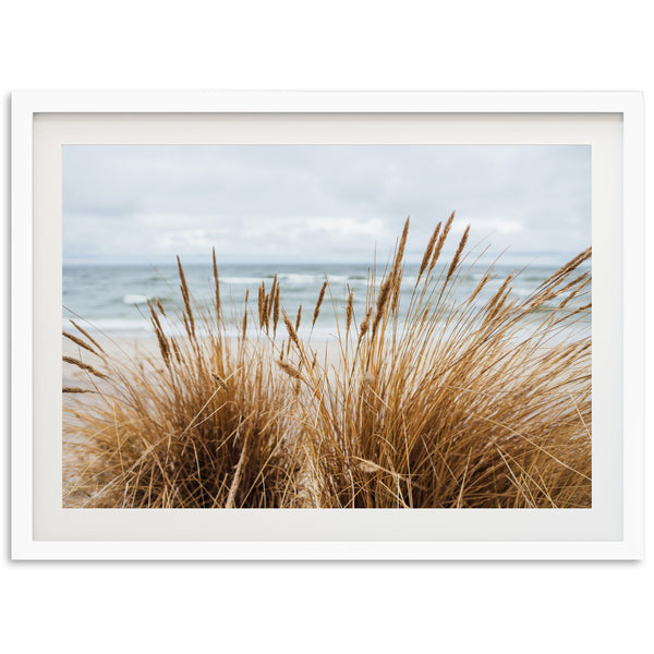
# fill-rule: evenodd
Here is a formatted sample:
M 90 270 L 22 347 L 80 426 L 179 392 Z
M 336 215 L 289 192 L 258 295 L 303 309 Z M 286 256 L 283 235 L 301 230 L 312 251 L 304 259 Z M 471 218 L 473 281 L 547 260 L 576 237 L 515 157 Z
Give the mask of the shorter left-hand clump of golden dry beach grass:
M 70 505 L 264 508 L 296 496 L 284 380 L 272 349 L 247 340 L 245 316 L 238 342 L 225 338 L 214 269 L 213 311 L 198 312 L 179 264 L 183 337 L 167 336 L 162 305 L 148 304 L 157 356 L 108 356 L 86 342 L 101 378 L 64 358 L 89 373 L 92 393 L 65 411 Z

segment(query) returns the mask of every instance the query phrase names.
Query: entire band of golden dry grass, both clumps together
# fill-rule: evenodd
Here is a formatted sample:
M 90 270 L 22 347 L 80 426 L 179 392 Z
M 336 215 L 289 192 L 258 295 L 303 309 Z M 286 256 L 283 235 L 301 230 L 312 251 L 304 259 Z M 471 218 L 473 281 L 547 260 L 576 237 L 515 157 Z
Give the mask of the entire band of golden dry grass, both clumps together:
M 277 278 L 226 337 L 214 256 L 211 311 L 179 263 L 177 317 L 150 305 L 158 355 L 106 354 L 68 337 L 88 384 L 64 425 L 64 504 L 93 507 L 589 507 L 591 341 L 588 250 L 525 300 L 509 276 L 462 301 L 465 230 L 439 257 L 453 214 L 426 245 L 405 317 L 400 284 L 409 221 L 392 261 L 371 272 L 366 306 L 342 310 L 327 282 L 311 316 L 332 311 L 325 356 L 280 304 Z M 341 314 L 342 311 L 342 314 Z M 292 316 L 292 317 L 291 317 Z M 183 337 L 167 335 L 168 320 Z M 199 336 L 202 334 L 203 336 Z M 81 391 L 83 395 L 77 395 Z

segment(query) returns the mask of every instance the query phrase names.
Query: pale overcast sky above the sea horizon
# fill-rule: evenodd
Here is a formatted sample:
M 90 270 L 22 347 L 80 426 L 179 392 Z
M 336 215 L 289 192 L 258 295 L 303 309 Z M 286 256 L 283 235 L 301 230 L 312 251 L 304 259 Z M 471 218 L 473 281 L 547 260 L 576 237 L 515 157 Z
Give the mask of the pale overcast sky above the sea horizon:
M 63 261 L 368 262 L 411 216 L 409 259 L 453 233 L 494 252 L 591 244 L 591 148 L 535 146 L 63 147 Z M 456 243 L 450 249 L 456 247 Z

